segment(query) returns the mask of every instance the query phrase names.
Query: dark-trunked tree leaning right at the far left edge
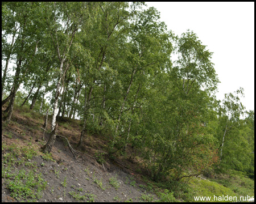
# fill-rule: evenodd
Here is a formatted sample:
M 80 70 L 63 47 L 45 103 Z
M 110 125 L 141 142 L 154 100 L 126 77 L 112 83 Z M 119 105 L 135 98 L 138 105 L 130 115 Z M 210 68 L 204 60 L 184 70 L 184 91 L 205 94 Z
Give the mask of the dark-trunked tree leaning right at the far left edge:
M 9 105 L 5 110 L 7 115 L 3 117 L 6 122 L 9 122 L 11 119 L 16 91 L 18 91 L 20 83 L 22 83 L 22 81 L 26 78 L 25 76 L 27 70 L 30 68 L 31 62 L 35 57 L 35 53 L 38 47 L 40 32 L 38 32 L 39 28 L 36 27 L 36 22 L 38 20 L 36 16 L 37 8 L 38 3 L 11 3 L 11 9 L 13 10 L 13 14 L 15 14 L 17 17 L 15 20 L 18 22 L 20 29 L 18 38 L 16 39 L 15 43 L 16 46 L 14 48 L 14 53 L 17 55 L 17 57 L 13 86 L 11 88 L 9 97 L 2 101 L 3 105 L 6 103 L 6 101 L 10 100 Z M 43 29 L 43 27 L 40 28 Z

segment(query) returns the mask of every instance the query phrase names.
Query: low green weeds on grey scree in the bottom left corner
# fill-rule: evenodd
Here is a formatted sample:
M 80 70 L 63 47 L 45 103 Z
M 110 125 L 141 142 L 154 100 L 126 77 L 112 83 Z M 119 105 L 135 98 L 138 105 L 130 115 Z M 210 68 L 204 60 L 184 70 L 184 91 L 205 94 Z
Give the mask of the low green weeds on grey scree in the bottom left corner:
M 36 202 L 42 197 L 42 190 L 46 189 L 47 182 L 37 173 L 34 163 L 27 161 L 36 155 L 33 148 L 23 147 L 19 150 L 18 145 L 4 145 L 4 150 L 9 151 L 3 156 L 2 178 L 6 179 L 6 188 L 10 190 L 10 196 L 18 201 Z M 22 158 L 22 159 L 19 159 Z M 26 165 L 30 168 L 17 170 L 15 165 Z M 16 170 L 14 170 L 16 169 Z

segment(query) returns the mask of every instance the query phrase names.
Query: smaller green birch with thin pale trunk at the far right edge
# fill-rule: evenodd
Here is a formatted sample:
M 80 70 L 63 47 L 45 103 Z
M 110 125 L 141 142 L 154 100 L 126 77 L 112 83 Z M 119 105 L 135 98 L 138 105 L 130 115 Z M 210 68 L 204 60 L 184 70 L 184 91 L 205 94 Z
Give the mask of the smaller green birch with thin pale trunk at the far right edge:
M 251 164 L 254 164 L 254 155 L 251 152 L 254 151 L 254 130 L 249 128 L 249 118 L 252 117 L 249 113 L 249 117 L 241 120 L 245 107 L 240 102 L 240 96 L 243 96 L 242 88 L 225 94 L 225 99 L 217 110 L 218 119 L 213 126 L 214 137 L 218 139 L 219 145 L 219 168 L 224 172 L 228 169 L 248 172 L 253 177 L 254 165 Z

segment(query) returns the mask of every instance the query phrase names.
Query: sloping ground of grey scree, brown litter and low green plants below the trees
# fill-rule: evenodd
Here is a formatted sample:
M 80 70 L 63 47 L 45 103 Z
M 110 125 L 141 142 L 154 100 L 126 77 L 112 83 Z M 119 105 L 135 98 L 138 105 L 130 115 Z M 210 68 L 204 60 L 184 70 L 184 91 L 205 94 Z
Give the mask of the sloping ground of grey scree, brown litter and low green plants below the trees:
M 253 181 L 227 175 L 218 175 L 212 181 L 191 179 L 187 182 L 190 188 L 183 186 L 170 193 L 163 184 L 148 179 L 140 163 L 129 162 L 125 156 L 110 160 L 104 135 L 86 134 L 77 160 L 61 137 L 56 138 L 51 154 L 43 154 L 43 121 L 44 116 L 27 108 L 15 108 L 9 125 L 2 121 L 2 202 L 183 202 L 192 201 L 196 192 L 197 196 L 237 196 L 236 192 L 246 194 L 245 189 L 253 193 Z M 76 147 L 80 121 L 65 118 L 58 123 L 57 135 L 68 138 Z M 48 137 L 49 130 L 46 140 Z M 223 185 L 217 184 L 218 180 Z M 229 186 L 230 180 L 233 186 Z

